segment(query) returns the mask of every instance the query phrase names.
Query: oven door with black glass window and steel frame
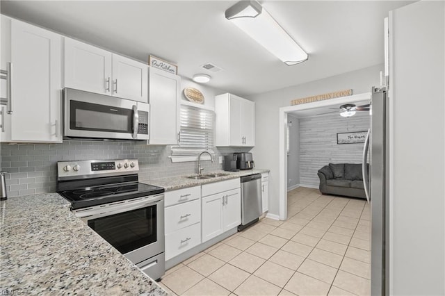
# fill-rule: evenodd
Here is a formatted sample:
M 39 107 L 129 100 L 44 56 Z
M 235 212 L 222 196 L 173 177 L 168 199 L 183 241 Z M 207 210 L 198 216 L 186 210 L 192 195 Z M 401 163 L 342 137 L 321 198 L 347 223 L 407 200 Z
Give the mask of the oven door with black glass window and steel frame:
M 93 206 L 74 213 L 135 264 L 164 252 L 163 194 Z

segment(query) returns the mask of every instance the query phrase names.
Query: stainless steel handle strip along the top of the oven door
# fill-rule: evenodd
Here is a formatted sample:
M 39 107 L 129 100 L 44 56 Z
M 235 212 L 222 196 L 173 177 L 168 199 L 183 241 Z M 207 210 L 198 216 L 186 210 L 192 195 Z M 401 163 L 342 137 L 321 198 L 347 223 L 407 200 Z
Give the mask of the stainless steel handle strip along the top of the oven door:
M 127 202 L 115 203 L 111 206 L 105 206 L 103 208 L 90 208 L 85 211 L 76 211 L 76 217 L 79 218 L 86 218 L 88 217 L 88 220 L 95 219 L 97 217 L 106 217 L 110 215 L 115 215 L 119 213 L 124 213 L 128 211 L 137 210 L 138 208 L 146 208 L 147 206 L 150 206 L 152 204 L 156 204 L 157 202 L 160 202 L 162 200 L 162 195 L 158 196 L 156 199 L 149 199 L 144 201 L 138 201 L 133 202 L 130 204 L 127 204 Z

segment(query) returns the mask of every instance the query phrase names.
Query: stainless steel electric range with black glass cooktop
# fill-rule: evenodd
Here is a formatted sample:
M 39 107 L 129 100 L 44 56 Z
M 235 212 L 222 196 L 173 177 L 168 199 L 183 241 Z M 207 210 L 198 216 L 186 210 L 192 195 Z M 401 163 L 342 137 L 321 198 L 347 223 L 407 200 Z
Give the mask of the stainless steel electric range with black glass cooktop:
M 138 160 L 62 161 L 57 169 L 57 192 L 74 215 L 149 277 L 160 279 L 164 189 L 138 182 Z

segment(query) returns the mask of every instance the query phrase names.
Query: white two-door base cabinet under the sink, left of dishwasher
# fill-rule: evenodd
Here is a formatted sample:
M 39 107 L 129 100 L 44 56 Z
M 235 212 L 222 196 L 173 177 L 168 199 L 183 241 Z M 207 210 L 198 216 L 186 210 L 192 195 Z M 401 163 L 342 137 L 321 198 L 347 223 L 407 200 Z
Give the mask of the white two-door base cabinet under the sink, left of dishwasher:
M 241 224 L 239 179 L 203 185 L 202 195 L 202 242 Z

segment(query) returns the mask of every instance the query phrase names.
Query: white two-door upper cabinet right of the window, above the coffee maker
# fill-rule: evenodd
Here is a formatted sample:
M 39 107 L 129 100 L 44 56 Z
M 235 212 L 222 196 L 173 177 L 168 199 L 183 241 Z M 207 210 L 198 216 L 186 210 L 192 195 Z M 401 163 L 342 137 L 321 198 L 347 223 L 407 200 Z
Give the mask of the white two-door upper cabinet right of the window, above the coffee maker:
M 255 145 L 255 103 L 234 94 L 216 96 L 216 146 Z

